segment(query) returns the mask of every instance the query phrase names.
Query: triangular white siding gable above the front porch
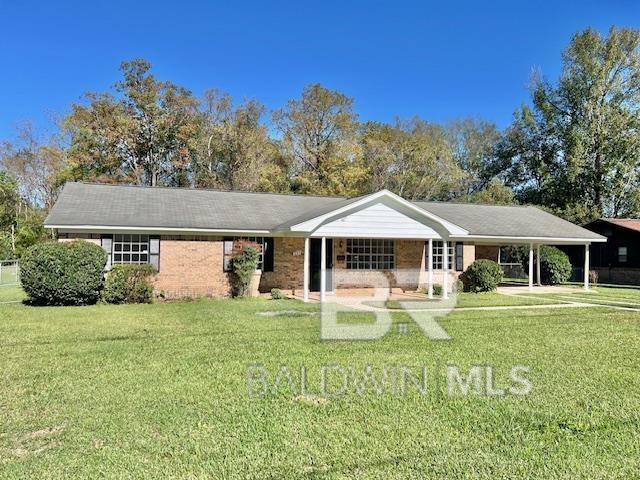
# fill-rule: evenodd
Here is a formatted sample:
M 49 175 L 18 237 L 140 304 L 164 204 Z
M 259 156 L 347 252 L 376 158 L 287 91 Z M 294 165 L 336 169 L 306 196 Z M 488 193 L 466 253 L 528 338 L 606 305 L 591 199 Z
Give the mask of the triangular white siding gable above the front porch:
M 360 237 L 360 238 L 441 238 L 431 227 L 385 205 L 370 204 L 344 217 L 330 220 L 318 227 L 313 237 Z

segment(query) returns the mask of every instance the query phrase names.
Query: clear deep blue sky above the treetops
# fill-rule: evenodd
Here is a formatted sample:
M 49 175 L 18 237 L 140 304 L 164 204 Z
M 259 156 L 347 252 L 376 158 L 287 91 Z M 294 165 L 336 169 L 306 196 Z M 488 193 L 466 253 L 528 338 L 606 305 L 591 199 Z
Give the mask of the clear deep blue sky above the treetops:
M 217 87 L 269 108 L 320 82 L 362 120 L 467 115 L 509 124 L 533 68 L 555 78 L 571 35 L 640 26 L 640 2 L 214 2 L 0 0 L 0 138 L 52 130 L 124 59 L 200 95 Z

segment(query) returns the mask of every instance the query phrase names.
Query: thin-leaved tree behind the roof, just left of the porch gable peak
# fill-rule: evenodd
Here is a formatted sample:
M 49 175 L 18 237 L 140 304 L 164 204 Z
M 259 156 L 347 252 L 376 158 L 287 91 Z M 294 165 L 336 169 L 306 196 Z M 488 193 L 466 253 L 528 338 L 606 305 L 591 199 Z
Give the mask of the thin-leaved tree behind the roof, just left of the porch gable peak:
M 320 84 L 308 85 L 299 99 L 273 112 L 282 135 L 281 148 L 292 159 L 297 190 L 320 193 L 342 190 L 330 186 L 332 173 L 349 168 L 354 160 L 356 114 L 353 99 Z

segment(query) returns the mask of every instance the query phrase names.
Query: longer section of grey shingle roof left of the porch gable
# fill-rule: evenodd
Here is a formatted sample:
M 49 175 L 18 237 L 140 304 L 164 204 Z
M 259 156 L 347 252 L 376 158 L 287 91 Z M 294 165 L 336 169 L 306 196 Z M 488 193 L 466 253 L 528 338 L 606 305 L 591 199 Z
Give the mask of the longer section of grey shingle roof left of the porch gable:
M 271 230 L 343 197 L 67 183 L 47 225 Z

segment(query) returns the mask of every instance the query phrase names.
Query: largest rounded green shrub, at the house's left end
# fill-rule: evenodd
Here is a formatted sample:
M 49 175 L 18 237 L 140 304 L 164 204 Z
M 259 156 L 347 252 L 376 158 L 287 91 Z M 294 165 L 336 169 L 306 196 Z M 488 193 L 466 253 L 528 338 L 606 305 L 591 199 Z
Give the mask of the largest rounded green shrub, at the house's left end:
M 36 304 L 92 304 L 100 298 L 106 263 L 104 250 L 90 242 L 39 243 L 22 256 L 20 280 Z

